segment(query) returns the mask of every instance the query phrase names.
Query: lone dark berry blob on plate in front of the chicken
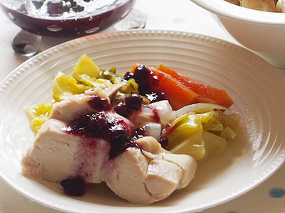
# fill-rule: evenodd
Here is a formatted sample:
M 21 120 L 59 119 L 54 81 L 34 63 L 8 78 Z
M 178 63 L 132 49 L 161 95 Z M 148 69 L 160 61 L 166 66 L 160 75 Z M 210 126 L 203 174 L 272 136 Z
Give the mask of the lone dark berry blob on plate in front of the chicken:
M 61 180 L 63 193 L 69 196 L 82 196 L 85 190 L 85 181 L 82 178 L 68 178 Z

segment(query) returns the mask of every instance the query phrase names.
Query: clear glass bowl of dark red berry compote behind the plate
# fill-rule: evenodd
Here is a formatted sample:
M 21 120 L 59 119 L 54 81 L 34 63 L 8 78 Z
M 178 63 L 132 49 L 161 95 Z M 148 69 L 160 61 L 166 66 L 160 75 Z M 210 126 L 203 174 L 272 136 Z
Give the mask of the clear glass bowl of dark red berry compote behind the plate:
M 24 31 L 53 37 L 98 33 L 125 18 L 136 0 L 1 0 L 0 7 Z

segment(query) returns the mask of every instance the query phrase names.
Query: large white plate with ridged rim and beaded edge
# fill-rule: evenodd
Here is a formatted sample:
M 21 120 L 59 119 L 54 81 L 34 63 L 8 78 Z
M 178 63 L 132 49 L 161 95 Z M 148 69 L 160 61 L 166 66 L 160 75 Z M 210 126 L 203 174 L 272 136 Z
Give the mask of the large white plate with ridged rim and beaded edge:
M 130 70 L 135 62 L 163 63 L 225 89 L 242 116 L 242 137 L 217 158 L 199 163 L 188 187 L 149 206 L 120 200 L 105 185 L 67 197 L 53 182 L 21 175 L 21 155 L 33 139 L 23 108 L 51 99 L 58 71 L 70 74 L 86 53 L 100 68 Z M 171 31 L 102 33 L 63 43 L 24 62 L 0 84 L 0 175 L 28 199 L 64 212 L 197 212 L 259 185 L 284 162 L 284 78 L 257 55 L 217 38 Z M 126 189 L 127 190 L 127 189 Z

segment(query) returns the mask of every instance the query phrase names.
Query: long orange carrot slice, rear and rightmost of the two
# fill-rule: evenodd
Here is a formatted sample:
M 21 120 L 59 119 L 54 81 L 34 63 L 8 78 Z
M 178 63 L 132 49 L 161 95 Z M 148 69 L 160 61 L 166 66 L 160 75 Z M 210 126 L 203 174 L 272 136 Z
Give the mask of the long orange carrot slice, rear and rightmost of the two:
M 171 75 L 178 82 L 181 82 L 193 92 L 198 94 L 199 103 L 219 104 L 224 107 L 230 107 L 233 104 L 232 98 L 229 97 L 229 94 L 222 89 L 217 89 L 215 87 L 196 82 L 195 80 L 190 79 L 190 77 L 181 75 L 175 70 L 170 69 L 170 67 L 162 64 L 158 65 L 157 70 Z

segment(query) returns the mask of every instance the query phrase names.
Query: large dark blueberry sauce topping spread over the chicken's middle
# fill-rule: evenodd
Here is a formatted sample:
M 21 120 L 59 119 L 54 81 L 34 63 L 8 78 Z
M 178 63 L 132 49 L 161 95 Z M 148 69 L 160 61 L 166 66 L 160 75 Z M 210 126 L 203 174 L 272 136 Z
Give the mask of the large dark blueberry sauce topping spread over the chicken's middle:
M 135 139 L 140 138 L 139 133 L 124 119 L 113 116 L 114 111 L 107 99 L 92 96 L 88 104 L 98 111 L 72 121 L 66 126 L 66 133 L 76 134 L 83 138 L 105 139 L 110 143 L 110 159 L 120 155 L 129 147 L 138 147 Z M 138 110 L 142 104 L 142 97 L 132 94 L 125 99 L 123 104 L 128 111 Z

